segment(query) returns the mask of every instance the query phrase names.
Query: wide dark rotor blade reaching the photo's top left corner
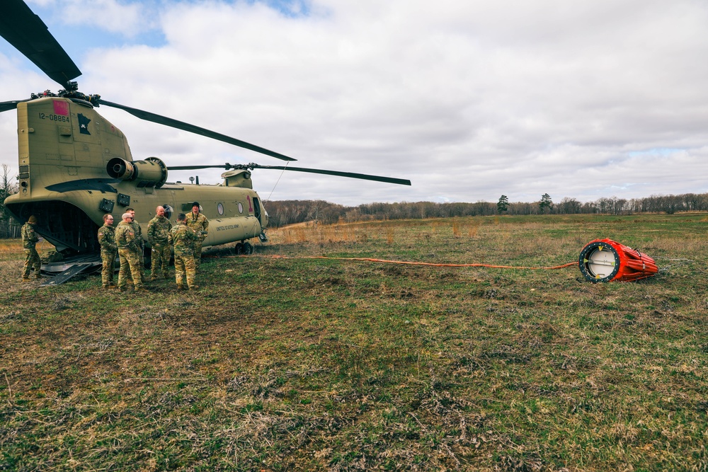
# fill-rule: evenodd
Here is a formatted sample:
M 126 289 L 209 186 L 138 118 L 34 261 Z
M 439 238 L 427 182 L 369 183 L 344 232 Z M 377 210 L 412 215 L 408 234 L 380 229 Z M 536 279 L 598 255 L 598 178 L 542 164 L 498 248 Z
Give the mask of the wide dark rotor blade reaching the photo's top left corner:
M 22 0 L 2 2 L 0 36 L 62 87 L 81 75 L 79 67 Z

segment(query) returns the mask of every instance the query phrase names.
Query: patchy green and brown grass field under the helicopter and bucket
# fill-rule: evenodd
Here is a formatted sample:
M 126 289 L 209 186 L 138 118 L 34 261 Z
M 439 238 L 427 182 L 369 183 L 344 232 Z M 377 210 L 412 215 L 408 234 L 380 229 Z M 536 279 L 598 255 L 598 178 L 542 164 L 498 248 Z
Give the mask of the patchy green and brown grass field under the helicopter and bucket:
M 0 471 L 707 471 L 707 223 L 298 226 L 152 295 L 23 284 L 0 241 Z M 548 267 L 595 238 L 662 270 L 346 260 Z

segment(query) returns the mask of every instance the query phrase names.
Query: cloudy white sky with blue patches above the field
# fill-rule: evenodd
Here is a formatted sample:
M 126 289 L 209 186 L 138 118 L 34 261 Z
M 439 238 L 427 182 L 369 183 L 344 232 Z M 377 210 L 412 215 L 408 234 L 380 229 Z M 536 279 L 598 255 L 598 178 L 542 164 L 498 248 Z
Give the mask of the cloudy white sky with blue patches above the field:
M 590 202 L 708 192 L 708 2 L 29 0 L 79 90 L 227 134 L 292 166 L 263 200 Z M 0 40 L 0 101 L 59 86 Z M 98 109 L 133 158 L 270 156 Z M 0 163 L 17 171 L 16 114 Z M 223 170 L 170 172 L 218 183 Z

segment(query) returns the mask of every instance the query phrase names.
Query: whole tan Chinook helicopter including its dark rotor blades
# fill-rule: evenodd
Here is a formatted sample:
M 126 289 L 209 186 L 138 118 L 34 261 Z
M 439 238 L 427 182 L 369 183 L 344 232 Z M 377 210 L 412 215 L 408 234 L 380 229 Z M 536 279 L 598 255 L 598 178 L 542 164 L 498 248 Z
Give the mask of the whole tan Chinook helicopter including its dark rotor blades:
M 64 256 L 96 255 L 96 231 L 103 214 L 120 218 L 127 207 L 136 209 L 147 224 L 158 205 L 188 213 L 200 202 L 210 219 L 204 246 L 236 242 L 236 251 L 249 253 L 251 238 L 265 238 L 268 214 L 253 190 L 251 171 L 280 169 L 411 185 L 410 180 L 360 173 L 326 171 L 255 163 L 168 167 L 157 157 L 134 160 L 125 135 L 96 112 L 100 105 L 120 108 L 143 120 L 167 125 L 257 151 L 283 161 L 295 161 L 275 151 L 173 120 L 137 108 L 84 95 L 75 81 L 81 71 L 47 30 L 47 26 L 22 0 L 5 0 L 0 15 L 0 35 L 47 76 L 64 87 L 58 93 L 33 93 L 25 100 L 0 102 L 0 112 L 17 110 L 18 193 L 5 207 L 18 221 L 35 215 L 38 234 Z M 172 170 L 224 168 L 223 183 L 193 185 L 168 183 Z M 144 228 L 145 229 L 145 228 Z

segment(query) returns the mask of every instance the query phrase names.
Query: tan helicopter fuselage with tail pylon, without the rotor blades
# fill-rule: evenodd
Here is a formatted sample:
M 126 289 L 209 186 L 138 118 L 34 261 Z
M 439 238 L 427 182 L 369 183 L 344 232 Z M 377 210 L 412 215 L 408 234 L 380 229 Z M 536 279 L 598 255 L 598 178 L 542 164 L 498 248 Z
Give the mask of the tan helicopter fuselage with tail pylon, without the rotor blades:
M 36 231 L 64 253 L 97 253 L 103 215 L 132 207 L 147 232 L 156 207 L 173 224 L 199 202 L 210 220 L 204 246 L 261 234 L 268 215 L 249 171 L 230 171 L 219 185 L 167 182 L 156 157 L 133 161 L 127 139 L 84 100 L 38 98 L 18 103 L 19 190 L 5 200 L 18 221 L 38 218 Z

